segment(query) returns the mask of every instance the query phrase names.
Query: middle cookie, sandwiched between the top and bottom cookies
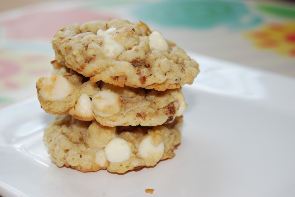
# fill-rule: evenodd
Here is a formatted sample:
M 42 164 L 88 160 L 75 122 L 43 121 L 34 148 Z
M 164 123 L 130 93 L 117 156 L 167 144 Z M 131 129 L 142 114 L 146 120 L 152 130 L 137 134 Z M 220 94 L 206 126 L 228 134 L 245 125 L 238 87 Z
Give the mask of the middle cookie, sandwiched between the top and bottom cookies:
M 58 67 L 58 62 L 53 64 L 55 74 L 41 77 L 36 83 L 41 107 L 50 114 L 70 114 L 84 121 L 95 119 L 109 127 L 156 126 L 172 122 L 187 107 L 180 88 L 157 91 L 118 87 L 92 82 Z

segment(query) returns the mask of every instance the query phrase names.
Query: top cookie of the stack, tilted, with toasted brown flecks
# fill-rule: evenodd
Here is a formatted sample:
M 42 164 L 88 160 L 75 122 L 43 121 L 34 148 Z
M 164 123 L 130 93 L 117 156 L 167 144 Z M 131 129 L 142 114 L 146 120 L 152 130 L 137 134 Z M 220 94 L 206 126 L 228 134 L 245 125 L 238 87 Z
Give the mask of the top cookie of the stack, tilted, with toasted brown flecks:
M 160 32 L 126 20 L 61 28 L 52 39 L 55 59 L 93 82 L 166 90 L 192 84 L 198 63 Z

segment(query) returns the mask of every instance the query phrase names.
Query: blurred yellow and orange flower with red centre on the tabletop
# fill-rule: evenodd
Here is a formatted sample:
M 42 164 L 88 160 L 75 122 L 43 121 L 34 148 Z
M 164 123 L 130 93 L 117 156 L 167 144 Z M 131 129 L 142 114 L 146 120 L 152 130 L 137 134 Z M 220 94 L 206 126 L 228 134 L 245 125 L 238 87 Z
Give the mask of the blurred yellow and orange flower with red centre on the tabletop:
M 267 24 L 246 36 L 259 49 L 268 49 L 284 56 L 295 57 L 295 23 Z

